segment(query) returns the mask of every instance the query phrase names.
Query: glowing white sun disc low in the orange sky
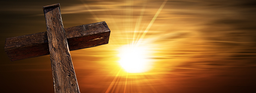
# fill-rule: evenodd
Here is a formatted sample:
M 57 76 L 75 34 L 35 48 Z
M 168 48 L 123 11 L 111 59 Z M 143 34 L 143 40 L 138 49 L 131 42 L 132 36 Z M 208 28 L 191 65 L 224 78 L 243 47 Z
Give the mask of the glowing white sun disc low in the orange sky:
M 124 45 L 119 52 L 119 63 L 127 72 L 142 73 L 149 70 L 150 63 L 146 58 L 146 48 Z

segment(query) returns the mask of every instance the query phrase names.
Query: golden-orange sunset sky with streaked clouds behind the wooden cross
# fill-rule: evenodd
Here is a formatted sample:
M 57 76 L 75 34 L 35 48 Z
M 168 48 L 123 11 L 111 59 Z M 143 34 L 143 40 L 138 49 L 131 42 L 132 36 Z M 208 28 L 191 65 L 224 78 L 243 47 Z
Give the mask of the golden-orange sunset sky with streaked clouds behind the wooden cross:
M 46 31 L 56 3 L 64 28 L 111 30 L 70 51 L 81 93 L 256 93 L 255 0 L 1 0 L 1 92 L 54 93 L 50 56 L 10 61 L 4 42 Z

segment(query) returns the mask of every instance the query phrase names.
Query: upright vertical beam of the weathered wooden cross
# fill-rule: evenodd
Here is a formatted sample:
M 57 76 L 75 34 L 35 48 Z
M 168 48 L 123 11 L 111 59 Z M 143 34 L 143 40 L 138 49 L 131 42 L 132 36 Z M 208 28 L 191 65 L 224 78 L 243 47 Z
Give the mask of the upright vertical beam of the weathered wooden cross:
M 80 93 L 59 4 L 43 7 L 55 93 Z

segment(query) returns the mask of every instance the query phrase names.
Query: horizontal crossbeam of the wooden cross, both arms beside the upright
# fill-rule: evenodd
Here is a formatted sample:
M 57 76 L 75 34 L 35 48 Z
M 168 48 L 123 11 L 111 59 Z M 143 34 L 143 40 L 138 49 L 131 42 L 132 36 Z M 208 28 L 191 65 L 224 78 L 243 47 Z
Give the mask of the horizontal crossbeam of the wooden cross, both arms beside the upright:
M 105 21 L 64 29 L 70 51 L 108 44 L 110 37 Z M 6 38 L 4 51 L 11 61 L 49 55 L 47 32 Z

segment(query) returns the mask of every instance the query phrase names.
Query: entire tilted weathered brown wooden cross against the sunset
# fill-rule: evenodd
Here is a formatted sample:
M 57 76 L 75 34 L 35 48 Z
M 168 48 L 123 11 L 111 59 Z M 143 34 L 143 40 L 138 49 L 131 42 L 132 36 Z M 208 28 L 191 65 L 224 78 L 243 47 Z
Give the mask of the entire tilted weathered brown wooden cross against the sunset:
M 55 93 L 80 93 L 70 52 L 108 44 L 105 21 L 64 28 L 60 4 L 44 6 L 47 32 L 6 38 L 4 51 L 11 61 L 49 55 Z

